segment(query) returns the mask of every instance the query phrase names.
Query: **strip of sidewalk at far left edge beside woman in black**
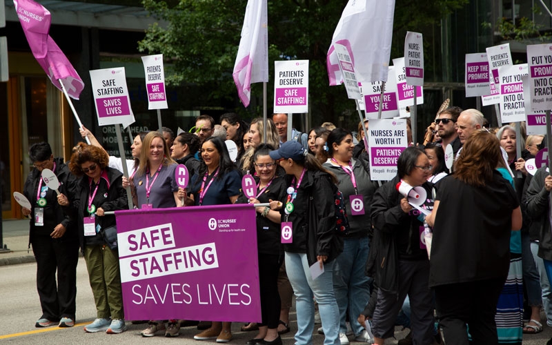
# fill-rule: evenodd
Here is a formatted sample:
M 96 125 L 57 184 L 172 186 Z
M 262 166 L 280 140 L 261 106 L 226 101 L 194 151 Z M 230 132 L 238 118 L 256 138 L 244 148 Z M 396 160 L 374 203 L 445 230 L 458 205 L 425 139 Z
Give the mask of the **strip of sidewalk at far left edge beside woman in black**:
M 35 262 L 29 244 L 29 219 L 10 219 L 2 221 L 0 266 Z

